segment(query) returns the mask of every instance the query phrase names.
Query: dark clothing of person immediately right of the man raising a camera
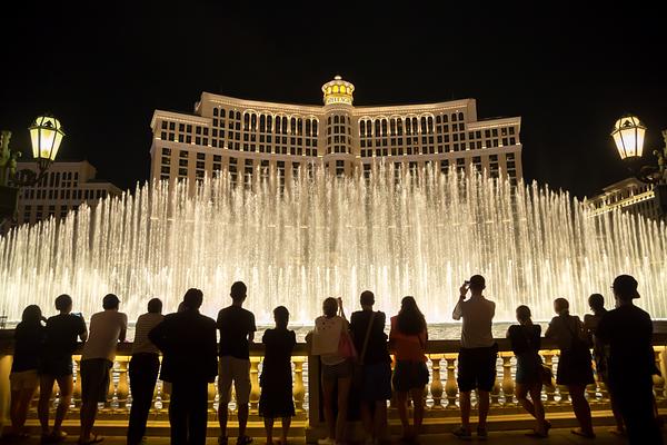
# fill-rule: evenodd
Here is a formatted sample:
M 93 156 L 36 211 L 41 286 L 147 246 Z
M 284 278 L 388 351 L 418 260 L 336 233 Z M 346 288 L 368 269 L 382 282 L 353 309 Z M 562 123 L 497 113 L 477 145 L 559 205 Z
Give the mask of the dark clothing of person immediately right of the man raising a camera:
M 539 374 L 541 358 L 538 354 L 540 333 L 541 327 L 539 325 L 514 325 L 509 327 L 508 336 L 511 350 L 517 357 L 516 379 L 518 384 L 532 385 L 541 382 Z

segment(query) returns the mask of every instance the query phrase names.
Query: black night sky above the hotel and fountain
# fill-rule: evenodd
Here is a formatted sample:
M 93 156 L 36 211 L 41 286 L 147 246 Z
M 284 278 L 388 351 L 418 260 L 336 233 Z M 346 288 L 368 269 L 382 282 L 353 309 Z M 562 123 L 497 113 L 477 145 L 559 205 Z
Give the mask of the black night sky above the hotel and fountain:
M 636 1 L 68 3 L 3 11 L 0 128 L 28 150 L 50 111 L 59 158 L 121 188 L 148 178 L 155 109 L 191 112 L 201 91 L 321 105 L 338 73 L 358 106 L 475 98 L 481 119 L 521 116 L 525 178 L 579 197 L 628 176 L 609 137 L 620 115 L 646 123 L 647 148 L 667 129 L 665 20 Z

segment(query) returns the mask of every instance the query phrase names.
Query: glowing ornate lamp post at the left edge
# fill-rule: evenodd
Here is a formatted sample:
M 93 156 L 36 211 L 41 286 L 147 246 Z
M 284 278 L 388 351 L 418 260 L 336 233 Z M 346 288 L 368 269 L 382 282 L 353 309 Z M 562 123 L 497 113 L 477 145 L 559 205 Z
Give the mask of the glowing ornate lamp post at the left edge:
M 38 171 L 24 169 L 17 171 L 17 160 L 21 151 L 9 148 L 11 131 L 2 131 L 0 140 L 0 218 L 2 222 L 14 215 L 21 187 L 31 187 L 39 182 L 56 160 L 64 131 L 58 119 L 52 116 L 39 116 L 29 128 L 32 142 L 32 157 Z

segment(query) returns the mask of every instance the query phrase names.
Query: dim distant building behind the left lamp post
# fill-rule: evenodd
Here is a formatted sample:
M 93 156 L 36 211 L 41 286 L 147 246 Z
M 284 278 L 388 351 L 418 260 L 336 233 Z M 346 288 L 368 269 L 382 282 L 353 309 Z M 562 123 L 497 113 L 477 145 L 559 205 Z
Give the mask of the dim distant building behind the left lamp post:
M 37 166 L 18 162 L 17 170 L 37 172 Z M 96 168 L 86 160 L 53 162 L 38 184 L 21 188 L 16 224 L 32 224 L 51 216 L 61 218 L 82 202 L 94 207 L 99 199 L 121 194 L 113 184 L 96 179 Z

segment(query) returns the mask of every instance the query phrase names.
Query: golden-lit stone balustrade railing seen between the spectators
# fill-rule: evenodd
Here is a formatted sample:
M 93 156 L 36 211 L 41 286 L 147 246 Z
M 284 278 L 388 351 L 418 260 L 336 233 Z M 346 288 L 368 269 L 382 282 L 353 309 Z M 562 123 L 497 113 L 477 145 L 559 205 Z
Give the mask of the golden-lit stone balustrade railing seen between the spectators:
M 4 332 L 10 333 L 10 332 Z M 7 423 L 8 403 L 9 403 L 9 370 L 11 368 L 11 340 L 7 337 L 10 334 L 4 334 L 4 339 L 0 336 L 0 422 Z M 515 360 L 514 355 L 509 350 L 509 342 L 507 339 L 498 339 L 499 354 L 497 360 L 496 384 L 491 390 L 491 415 L 495 414 L 516 414 L 521 409 L 518 406 L 515 396 Z M 665 354 L 667 346 L 667 335 L 659 334 L 654 337 L 656 366 L 661 370 L 663 376 L 667 376 L 667 367 Z M 542 349 L 539 352 L 544 363 L 550 366 L 556 374 L 556 365 L 558 362 L 559 352 L 549 340 L 542 342 Z M 459 392 L 456 380 L 457 359 L 458 359 L 458 340 L 429 340 L 427 346 L 428 367 L 430 378 L 428 390 L 426 392 L 427 418 L 438 423 L 438 419 L 458 416 Z M 109 418 L 125 421 L 129 414 L 131 406 L 131 392 L 128 377 L 128 365 L 130 359 L 131 344 L 121 344 L 118 347 L 118 355 L 112 368 L 112 378 L 109 386 L 109 399 L 101 406 L 99 418 Z M 261 345 L 252 345 L 250 353 L 250 413 L 251 417 L 257 415 L 259 403 L 260 387 L 259 375 L 261 373 L 261 360 L 263 357 L 263 347 Z M 320 379 L 319 379 L 319 359 L 318 357 L 308 356 L 305 344 L 298 344 L 292 355 L 292 382 L 293 382 L 293 398 L 297 411 L 297 419 L 307 422 L 309 438 L 323 434 L 323 417 L 320 413 Z M 77 412 L 81 405 L 81 384 L 77 378 L 77 370 L 80 365 L 80 356 L 74 356 L 74 392 L 72 397 L 71 409 Z M 656 400 L 659 406 L 667 403 L 666 385 L 663 376 L 654 376 L 654 388 Z M 209 421 L 215 423 L 216 411 L 218 407 L 217 384 L 209 385 Z M 36 396 L 37 399 L 38 396 Z M 591 409 L 608 409 L 609 396 L 605 384 L 597 378 L 596 382 L 587 387 L 587 397 Z M 547 412 L 564 412 L 570 411 L 570 400 L 567 388 L 564 386 L 547 385 L 542 389 L 542 399 Z M 51 405 L 54 407 L 58 404 L 58 394 L 53 395 Z M 34 408 L 37 402 L 33 400 L 31 417 L 34 417 Z M 397 417 L 394 408 L 395 402 L 389 403 L 389 416 Z M 151 422 L 168 421 L 169 408 L 169 384 L 158 382 L 153 395 L 153 404 L 149 416 L 149 426 Z M 236 404 L 230 404 L 230 409 L 236 411 Z M 73 418 L 74 416 L 70 416 Z M 121 422 L 122 423 L 122 422 Z

